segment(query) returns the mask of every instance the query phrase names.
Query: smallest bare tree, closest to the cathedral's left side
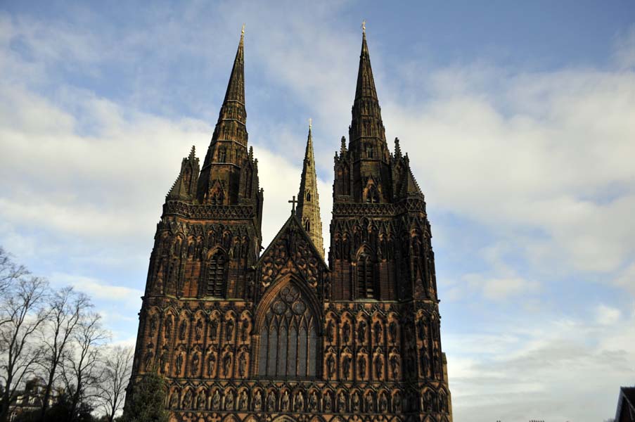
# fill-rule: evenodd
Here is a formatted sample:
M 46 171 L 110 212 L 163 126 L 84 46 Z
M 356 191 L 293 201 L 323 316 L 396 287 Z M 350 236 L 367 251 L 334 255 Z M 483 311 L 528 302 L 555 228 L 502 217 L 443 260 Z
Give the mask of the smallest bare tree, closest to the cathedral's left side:
M 103 380 L 97 386 L 97 396 L 108 422 L 113 422 L 115 414 L 124 405 L 134 349 L 115 346 L 111 347 L 107 353 L 108 355 L 103 359 Z

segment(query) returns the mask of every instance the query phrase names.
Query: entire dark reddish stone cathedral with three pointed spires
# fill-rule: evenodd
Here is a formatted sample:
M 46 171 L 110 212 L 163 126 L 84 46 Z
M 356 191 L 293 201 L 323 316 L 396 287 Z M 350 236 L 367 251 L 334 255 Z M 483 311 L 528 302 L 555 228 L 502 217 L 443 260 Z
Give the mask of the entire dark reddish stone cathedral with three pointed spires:
M 131 382 L 159 373 L 174 422 L 451 422 L 430 223 L 387 145 L 366 30 L 328 255 L 311 125 L 297 200 L 264 248 L 246 122 L 243 30 L 203 165 L 192 148 L 165 198 Z

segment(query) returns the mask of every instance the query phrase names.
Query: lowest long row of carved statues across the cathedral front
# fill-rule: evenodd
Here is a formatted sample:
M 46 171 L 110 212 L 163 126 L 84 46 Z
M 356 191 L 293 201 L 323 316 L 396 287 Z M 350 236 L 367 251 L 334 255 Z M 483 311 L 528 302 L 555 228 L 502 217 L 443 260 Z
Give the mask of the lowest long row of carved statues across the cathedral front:
M 402 395 L 399 390 L 392 393 L 372 391 L 352 393 L 346 390 L 319 392 L 302 390 L 289 392 L 265 392 L 259 388 L 239 392 L 220 388 L 173 388 L 167 397 L 167 407 L 173 410 L 215 410 L 215 411 L 268 411 L 288 413 L 402 413 L 410 411 L 447 413 L 448 398 L 442 390 L 426 388 L 416 397 Z

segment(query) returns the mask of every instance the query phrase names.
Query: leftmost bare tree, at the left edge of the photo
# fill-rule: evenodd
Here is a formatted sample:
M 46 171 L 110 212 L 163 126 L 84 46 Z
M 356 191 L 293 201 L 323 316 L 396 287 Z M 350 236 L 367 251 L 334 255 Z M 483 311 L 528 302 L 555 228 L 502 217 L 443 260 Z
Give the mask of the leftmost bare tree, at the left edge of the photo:
M 8 419 L 17 389 L 34 369 L 42 355 L 35 334 L 48 316 L 44 279 L 22 274 L 11 279 L 0 298 L 0 380 L 4 383 L 0 422 Z

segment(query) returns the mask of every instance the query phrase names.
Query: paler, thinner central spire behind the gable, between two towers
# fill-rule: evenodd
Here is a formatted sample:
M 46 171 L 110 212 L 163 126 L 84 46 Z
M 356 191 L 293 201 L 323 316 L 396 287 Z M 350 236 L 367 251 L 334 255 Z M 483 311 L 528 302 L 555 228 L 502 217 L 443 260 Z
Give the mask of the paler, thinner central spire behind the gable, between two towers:
M 304 164 L 300 178 L 300 192 L 297 193 L 297 218 L 302 222 L 304 230 L 309 234 L 316 249 L 324 259 L 322 241 L 322 219 L 320 218 L 320 197 L 317 191 L 317 175 L 313 157 L 313 136 L 311 133 L 311 119 L 309 119 L 309 137 L 307 150 L 304 151 Z

